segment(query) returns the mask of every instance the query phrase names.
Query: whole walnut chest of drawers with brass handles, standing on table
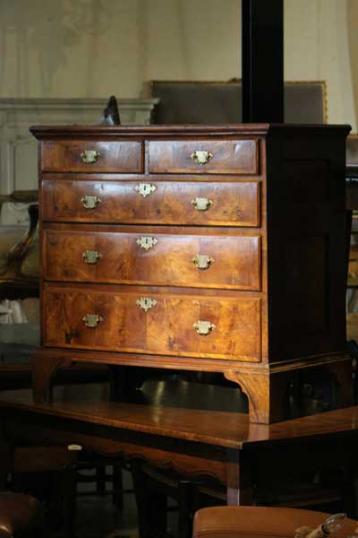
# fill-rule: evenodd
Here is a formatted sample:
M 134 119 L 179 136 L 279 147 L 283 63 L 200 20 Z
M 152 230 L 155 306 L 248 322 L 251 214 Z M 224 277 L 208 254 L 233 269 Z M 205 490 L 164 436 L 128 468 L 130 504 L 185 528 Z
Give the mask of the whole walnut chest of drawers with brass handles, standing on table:
M 223 372 L 250 419 L 307 368 L 350 401 L 344 126 L 34 127 L 42 346 L 71 361 Z

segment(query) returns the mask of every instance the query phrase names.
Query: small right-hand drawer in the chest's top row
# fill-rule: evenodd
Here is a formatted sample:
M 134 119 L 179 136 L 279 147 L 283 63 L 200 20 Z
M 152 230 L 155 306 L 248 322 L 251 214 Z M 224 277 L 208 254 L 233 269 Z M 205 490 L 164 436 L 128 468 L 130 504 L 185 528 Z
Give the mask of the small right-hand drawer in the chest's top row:
M 256 140 L 170 140 L 148 143 L 152 174 L 257 174 Z

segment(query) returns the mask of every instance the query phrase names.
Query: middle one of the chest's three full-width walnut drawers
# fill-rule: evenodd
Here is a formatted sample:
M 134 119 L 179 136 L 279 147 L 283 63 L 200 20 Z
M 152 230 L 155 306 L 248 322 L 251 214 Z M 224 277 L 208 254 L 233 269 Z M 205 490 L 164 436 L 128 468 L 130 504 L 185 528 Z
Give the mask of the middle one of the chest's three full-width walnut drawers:
M 44 231 L 47 280 L 260 289 L 259 236 L 57 226 Z

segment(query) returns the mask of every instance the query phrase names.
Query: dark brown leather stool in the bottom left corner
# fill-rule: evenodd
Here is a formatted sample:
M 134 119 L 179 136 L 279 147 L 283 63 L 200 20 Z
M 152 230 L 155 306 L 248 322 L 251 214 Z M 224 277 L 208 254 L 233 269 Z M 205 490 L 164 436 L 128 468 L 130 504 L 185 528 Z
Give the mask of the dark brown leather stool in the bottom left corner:
M 45 537 L 40 503 L 23 493 L 0 493 L 0 538 Z

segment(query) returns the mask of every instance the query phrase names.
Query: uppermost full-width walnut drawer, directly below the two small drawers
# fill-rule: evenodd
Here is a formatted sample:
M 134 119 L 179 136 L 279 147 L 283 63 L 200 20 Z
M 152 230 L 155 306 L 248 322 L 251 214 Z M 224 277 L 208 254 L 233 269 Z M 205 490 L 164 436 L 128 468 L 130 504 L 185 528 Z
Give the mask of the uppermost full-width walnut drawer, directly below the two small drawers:
M 259 226 L 260 183 L 44 180 L 45 220 Z

